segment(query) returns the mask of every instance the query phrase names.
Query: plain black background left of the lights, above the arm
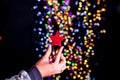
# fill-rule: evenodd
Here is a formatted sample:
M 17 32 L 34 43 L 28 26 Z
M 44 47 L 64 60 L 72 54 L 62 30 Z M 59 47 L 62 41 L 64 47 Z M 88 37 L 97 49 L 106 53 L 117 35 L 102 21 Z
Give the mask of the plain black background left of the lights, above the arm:
M 31 0 L 0 1 L 0 80 L 35 64 Z

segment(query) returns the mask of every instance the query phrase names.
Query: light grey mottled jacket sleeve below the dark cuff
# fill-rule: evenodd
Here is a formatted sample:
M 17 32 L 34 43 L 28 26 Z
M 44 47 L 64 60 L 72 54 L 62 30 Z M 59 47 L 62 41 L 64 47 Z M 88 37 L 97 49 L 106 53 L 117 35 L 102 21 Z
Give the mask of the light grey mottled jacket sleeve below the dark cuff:
M 14 75 L 10 78 L 6 78 L 5 80 L 31 80 L 27 71 L 22 70 L 18 75 Z

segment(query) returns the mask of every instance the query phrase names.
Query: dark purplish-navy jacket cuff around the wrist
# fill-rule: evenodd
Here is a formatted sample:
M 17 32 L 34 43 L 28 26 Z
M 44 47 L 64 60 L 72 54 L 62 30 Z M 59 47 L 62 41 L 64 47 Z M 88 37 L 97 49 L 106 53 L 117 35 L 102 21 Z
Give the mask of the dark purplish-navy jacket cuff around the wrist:
M 36 68 L 36 66 L 31 67 L 28 70 L 28 74 L 29 74 L 31 80 L 43 80 L 43 77 L 42 77 L 40 71 Z

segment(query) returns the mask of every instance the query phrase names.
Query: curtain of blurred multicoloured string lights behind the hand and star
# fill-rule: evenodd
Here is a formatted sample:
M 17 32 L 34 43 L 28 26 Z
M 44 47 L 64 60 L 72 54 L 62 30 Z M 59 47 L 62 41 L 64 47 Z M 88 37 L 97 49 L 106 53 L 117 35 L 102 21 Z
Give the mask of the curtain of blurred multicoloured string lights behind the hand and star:
M 106 11 L 105 0 L 35 0 L 33 27 L 35 51 L 42 57 L 58 30 L 65 37 L 63 55 L 67 70 L 48 80 L 91 80 L 90 58 L 94 56 L 95 39 L 106 33 L 101 23 Z M 54 51 L 52 53 L 54 55 Z M 52 60 L 52 58 L 51 58 Z M 64 75 L 63 75 L 64 74 Z M 94 78 L 95 80 L 95 78 Z

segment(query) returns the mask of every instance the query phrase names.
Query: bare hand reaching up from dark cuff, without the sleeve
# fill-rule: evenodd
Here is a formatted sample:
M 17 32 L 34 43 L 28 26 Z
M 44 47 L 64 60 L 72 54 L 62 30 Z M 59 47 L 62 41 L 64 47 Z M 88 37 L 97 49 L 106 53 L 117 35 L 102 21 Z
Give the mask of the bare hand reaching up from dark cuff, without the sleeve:
M 55 57 L 55 61 L 50 62 L 49 56 L 52 52 L 52 46 L 49 45 L 49 48 L 46 51 L 45 55 L 35 64 L 42 77 L 49 77 L 54 74 L 59 74 L 66 69 L 66 59 L 62 55 L 62 50 L 63 46 L 59 48 L 59 51 Z

